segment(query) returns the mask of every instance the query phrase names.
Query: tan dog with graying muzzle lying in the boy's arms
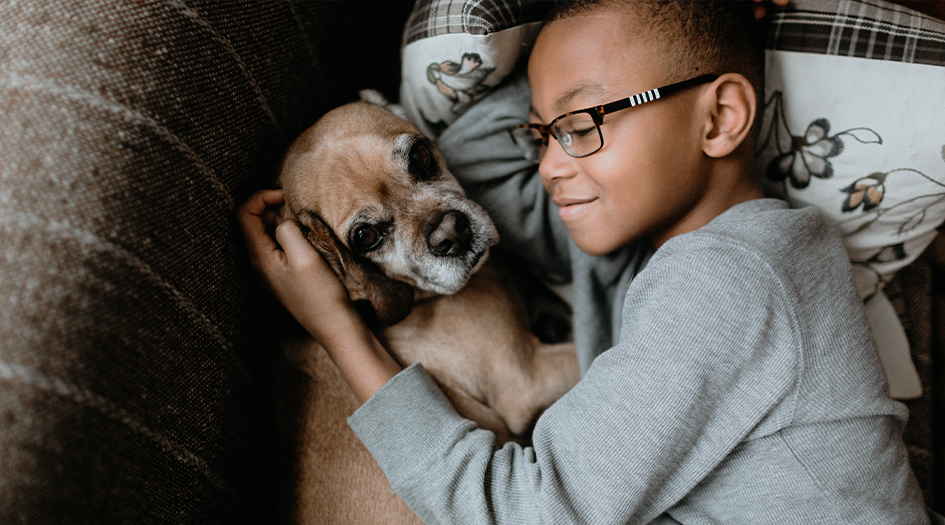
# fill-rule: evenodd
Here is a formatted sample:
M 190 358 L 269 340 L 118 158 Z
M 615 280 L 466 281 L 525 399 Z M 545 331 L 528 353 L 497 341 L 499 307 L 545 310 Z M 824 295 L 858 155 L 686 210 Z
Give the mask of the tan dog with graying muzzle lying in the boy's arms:
M 402 364 L 420 362 L 464 417 L 523 440 L 579 372 L 570 344 L 544 345 L 511 277 L 485 264 L 498 235 L 439 151 L 367 102 L 337 108 L 289 148 L 279 183 L 295 219 Z M 285 341 L 299 388 L 300 523 L 419 523 L 349 429 L 357 407 L 327 354 Z

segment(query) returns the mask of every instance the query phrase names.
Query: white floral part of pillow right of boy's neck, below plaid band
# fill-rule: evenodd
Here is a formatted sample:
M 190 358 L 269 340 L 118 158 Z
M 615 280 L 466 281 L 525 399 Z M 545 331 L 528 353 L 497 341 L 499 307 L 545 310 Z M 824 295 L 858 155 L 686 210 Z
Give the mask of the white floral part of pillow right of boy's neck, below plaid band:
M 766 190 L 837 224 L 891 391 L 918 396 L 882 290 L 945 220 L 945 67 L 777 50 L 767 67 L 756 156 Z

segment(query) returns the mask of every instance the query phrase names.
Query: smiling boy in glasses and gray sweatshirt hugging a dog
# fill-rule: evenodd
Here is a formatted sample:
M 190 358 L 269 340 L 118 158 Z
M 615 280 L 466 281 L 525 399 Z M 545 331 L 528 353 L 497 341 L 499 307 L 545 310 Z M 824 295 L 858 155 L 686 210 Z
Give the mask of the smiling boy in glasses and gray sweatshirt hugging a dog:
M 928 522 L 839 238 L 754 179 L 761 73 L 739 10 L 558 9 L 515 131 L 538 180 L 503 158 L 501 104 L 440 139 L 506 244 L 575 283 L 584 377 L 533 447 L 494 451 L 422 367 L 400 370 L 295 225 L 279 250 L 259 219 L 277 192 L 241 210 L 255 263 L 364 403 L 350 424 L 425 522 Z M 492 96 L 514 114 L 527 88 Z

